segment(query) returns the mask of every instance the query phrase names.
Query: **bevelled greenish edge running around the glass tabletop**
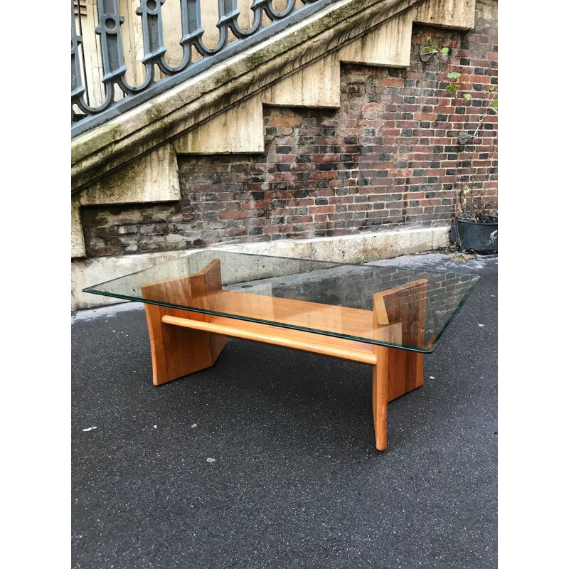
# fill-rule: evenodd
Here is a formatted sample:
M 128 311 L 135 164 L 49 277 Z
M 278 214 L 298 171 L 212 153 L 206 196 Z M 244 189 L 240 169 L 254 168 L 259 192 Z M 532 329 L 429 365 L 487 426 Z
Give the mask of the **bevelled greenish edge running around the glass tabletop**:
M 206 249 L 204 251 L 219 251 L 219 252 L 233 253 L 234 255 L 250 255 L 252 257 L 272 257 L 272 258 L 276 258 L 276 259 L 321 262 L 321 263 L 327 263 L 329 265 L 334 265 L 334 267 L 338 267 L 339 265 L 348 265 L 351 267 L 378 267 L 378 268 L 387 266 L 387 265 L 360 265 L 360 264 L 350 263 L 350 262 L 319 261 L 317 259 L 303 259 L 301 257 L 280 257 L 279 255 L 256 255 L 255 253 L 223 251 L 223 250 L 219 250 L 219 249 Z M 202 251 L 199 251 L 199 252 L 202 252 Z M 197 255 L 199 252 L 191 253 L 191 255 Z M 182 255 L 181 257 L 178 257 L 177 259 L 173 259 L 171 261 L 160 263 L 159 265 L 154 265 L 153 267 L 147 267 L 146 269 L 142 269 L 142 270 L 139 270 L 136 272 L 131 272 L 128 275 L 123 275 L 122 277 L 117 277 L 116 279 L 111 279 L 111 280 L 108 280 L 105 282 L 100 282 L 99 284 L 92 285 L 92 286 L 99 287 L 101 285 L 107 285 L 107 283 L 109 283 L 109 282 L 114 282 L 115 280 L 119 280 L 119 279 L 122 279 L 124 277 L 130 277 L 132 275 L 137 275 L 139 272 L 144 272 L 144 271 L 152 269 L 154 267 L 159 267 L 161 265 L 168 265 L 171 262 L 176 262 L 176 261 L 183 259 L 184 257 L 188 257 L 188 256 L 190 256 L 190 255 Z M 187 312 L 197 312 L 198 314 L 211 314 L 213 316 L 220 316 L 220 317 L 230 318 L 230 319 L 234 319 L 234 320 L 243 320 L 245 322 L 256 322 L 257 324 L 268 324 L 269 326 L 275 326 L 275 328 L 287 328 L 290 330 L 297 330 L 297 331 L 302 331 L 302 332 L 311 332 L 312 334 L 319 334 L 319 336 L 330 336 L 331 338 L 341 338 L 344 340 L 358 341 L 358 342 L 362 342 L 363 344 L 371 344 L 373 346 L 385 346 L 388 348 L 398 348 L 398 349 L 403 349 L 403 350 L 407 350 L 407 351 L 414 351 L 417 353 L 432 353 L 433 351 L 435 351 L 435 348 L 438 346 L 442 337 L 446 334 L 447 330 L 450 327 L 450 324 L 452 324 L 452 321 L 454 321 L 454 319 L 457 317 L 457 314 L 460 312 L 460 309 L 462 309 L 462 307 L 464 306 L 464 303 L 467 301 L 470 294 L 472 294 L 474 287 L 476 287 L 476 285 L 478 284 L 478 281 L 480 280 L 480 275 L 477 275 L 476 273 L 471 273 L 471 272 L 447 272 L 444 270 L 409 269 L 407 267 L 400 267 L 400 266 L 395 266 L 395 265 L 390 267 L 390 268 L 399 268 L 400 270 L 406 270 L 409 272 L 427 272 L 427 273 L 432 272 L 432 273 L 438 273 L 441 275 L 468 275 L 469 277 L 473 277 L 468 292 L 466 292 L 464 294 L 464 297 L 462 297 L 462 300 L 457 304 L 457 307 L 452 311 L 452 314 L 451 314 L 450 318 L 447 320 L 445 326 L 443 326 L 442 330 L 439 332 L 439 334 L 437 334 L 437 336 L 435 336 L 435 340 L 433 340 L 432 346 L 430 347 L 430 349 L 420 349 L 417 346 L 404 346 L 403 344 L 390 344 L 389 342 L 374 341 L 373 339 L 362 338 L 361 336 L 351 336 L 350 334 L 338 334 L 338 333 L 333 333 L 333 332 L 327 332 L 325 330 L 317 330 L 317 329 L 307 328 L 304 326 L 294 326 L 294 324 L 284 324 L 281 322 L 277 323 L 275 321 L 262 320 L 259 318 L 243 317 L 243 316 L 238 316 L 236 314 L 228 314 L 226 312 L 217 312 L 216 310 L 205 310 L 205 309 L 198 309 L 198 308 L 193 308 L 193 307 L 190 308 L 190 307 L 182 306 L 181 304 L 171 304 L 169 302 L 157 302 L 154 300 L 140 299 L 137 297 L 127 297 L 124 294 L 118 294 L 118 293 L 110 294 L 109 292 L 103 292 L 100 290 L 90 289 L 90 287 L 83 289 L 83 292 L 88 292 L 90 294 L 100 294 L 100 296 L 103 296 L 103 297 L 119 298 L 119 299 L 127 300 L 130 302 L 142 302 L 143 304 L 155 304 L 156 306 L 159 306 L 159 307 L 176 308 L 176 309 L 180 309 L 180 310 L 186 310 Z

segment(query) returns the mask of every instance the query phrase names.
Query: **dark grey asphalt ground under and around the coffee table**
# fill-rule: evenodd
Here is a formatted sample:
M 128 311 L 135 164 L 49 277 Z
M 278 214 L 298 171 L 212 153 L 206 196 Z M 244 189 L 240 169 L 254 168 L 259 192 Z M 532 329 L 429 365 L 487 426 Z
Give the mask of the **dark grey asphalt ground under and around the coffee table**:
M 384 453 L 367 366 L 232 340 L 156 388 L 143 310 L 76 314 L 73 568 L 497 567 L 498 259 L 453 255 L 397 260 L 482 279 Z

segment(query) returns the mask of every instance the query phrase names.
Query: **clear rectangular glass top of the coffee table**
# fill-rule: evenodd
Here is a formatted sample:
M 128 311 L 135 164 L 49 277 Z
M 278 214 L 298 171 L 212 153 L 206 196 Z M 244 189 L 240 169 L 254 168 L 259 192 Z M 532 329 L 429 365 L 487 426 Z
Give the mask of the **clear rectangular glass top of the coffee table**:
M 219 324 L 257 322 L 430 353 L 478 280 L 464 273 L 208 249 L 84 292 L 157 304 L 170 309 L 165 314 L 206 314 Z

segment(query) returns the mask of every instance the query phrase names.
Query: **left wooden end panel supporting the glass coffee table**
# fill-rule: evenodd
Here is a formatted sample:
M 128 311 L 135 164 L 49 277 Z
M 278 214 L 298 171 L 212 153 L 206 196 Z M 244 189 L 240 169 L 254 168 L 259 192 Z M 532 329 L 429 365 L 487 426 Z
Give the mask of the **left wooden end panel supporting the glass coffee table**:
M 216 292 L 218 289 L 215 287 L 221 287 L 221 269 L 217 259 L 195 275 L 148 283 L 142 285 L 141 290 L 147 299 L 171 304 L 193 302 L 198 307 L 203 304 L 205 308 L 208 292 Z M 191 317 L 201 321 L 206 321 L 208 315 L 156 304 L 144 304 L 144 308 L 150 336 L 154 385 L 187 376 L 215 363 L 225 346 L 224 336 L 213 338 L 214 335 L 208 332 L 169 326 L 162 322 L 165 315 Z

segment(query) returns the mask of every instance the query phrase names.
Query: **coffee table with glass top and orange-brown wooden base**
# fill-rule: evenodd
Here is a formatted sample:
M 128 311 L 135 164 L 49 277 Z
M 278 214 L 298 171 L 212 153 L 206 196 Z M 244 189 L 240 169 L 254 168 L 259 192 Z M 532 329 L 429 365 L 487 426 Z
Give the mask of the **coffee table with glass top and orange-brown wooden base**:
M 422 385 L 423 354 L 478 279 L 208 249 L 84 292 L 144 302 L 154 385 L 213 366 L 228 336 L 372 366 L 376 447 L 385 450 L 388 401 Z

